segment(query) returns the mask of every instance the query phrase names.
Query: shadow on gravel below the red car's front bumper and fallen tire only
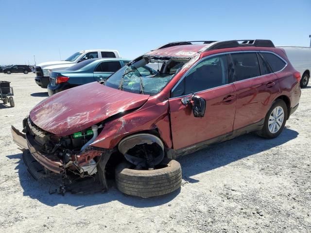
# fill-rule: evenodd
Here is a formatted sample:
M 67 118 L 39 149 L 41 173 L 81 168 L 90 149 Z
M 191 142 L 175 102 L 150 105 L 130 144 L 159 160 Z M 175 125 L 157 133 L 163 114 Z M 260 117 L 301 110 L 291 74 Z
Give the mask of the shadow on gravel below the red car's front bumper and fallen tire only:
M 23 196 L 28 196 L 32 199 L 39 200 L 45 205 L 56 206 L 58 204 L 69 204 L 75 206 L 77 209 L 81 209 L 87 206 L 94 206 L 118 200 L 121 203 L 137 208 L 152 207 L 165 204 L 173 200 L 179 193 L 180 188 L 173 193 L 153 198 L 139 198 L 122 194 L 113 184 L 109 185 L 107 192 L 93 193 L 93 194 L 71 194 L 65 193 L 64 196 L 60 194 L 50 194 L 50 190 L 54 190 L 57 187 L 57 181 L 59 181 L 58 175 L 52 179 L 42 179 L 36 181 L 23 162 L 22 154 L 14 154 L 6 156 L 9 159 L 19 159 L 16 163 L 15 170 L 18 172 L 19 182 L 23 188 Z M 52 182 L 51 182 L 52 181 Z M 109 182 L 110 183 L 110 182 Z

